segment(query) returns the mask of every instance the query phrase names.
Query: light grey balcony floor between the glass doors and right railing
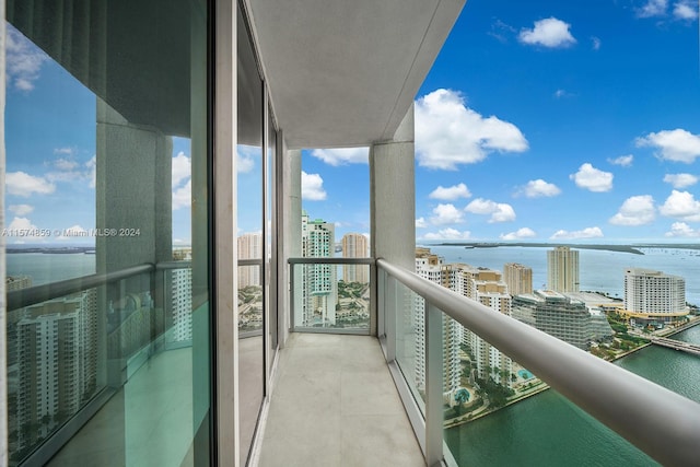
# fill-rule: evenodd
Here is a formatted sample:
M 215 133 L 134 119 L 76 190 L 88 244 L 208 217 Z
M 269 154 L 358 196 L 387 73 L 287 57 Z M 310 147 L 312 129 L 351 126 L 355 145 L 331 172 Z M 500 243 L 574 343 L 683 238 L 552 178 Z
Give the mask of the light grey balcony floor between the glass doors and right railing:
M 369 336 L 293 332 L 259 466 L 424 466 L 380 342 Z

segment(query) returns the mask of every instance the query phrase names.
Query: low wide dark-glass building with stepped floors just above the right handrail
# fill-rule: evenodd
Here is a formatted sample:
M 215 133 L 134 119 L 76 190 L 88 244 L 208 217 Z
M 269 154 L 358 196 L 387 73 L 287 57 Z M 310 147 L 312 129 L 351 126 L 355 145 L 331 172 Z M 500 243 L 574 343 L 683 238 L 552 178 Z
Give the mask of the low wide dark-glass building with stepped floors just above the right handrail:
M 585 303 L 551 290 L 514 296 L 512 316 L 580 349 L 612 335 L 607 320 L 600 323 L 604 315 L 594 316 Z

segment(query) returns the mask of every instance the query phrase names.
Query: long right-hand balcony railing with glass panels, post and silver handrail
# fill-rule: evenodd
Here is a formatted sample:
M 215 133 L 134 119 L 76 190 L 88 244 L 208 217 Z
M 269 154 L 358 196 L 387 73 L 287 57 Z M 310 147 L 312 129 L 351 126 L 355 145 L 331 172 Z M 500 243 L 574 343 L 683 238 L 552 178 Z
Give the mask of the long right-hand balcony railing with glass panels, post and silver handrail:
M 385 260 L 376 267 L 378 335 L 428 465 L 697 463 L 700 404 Z

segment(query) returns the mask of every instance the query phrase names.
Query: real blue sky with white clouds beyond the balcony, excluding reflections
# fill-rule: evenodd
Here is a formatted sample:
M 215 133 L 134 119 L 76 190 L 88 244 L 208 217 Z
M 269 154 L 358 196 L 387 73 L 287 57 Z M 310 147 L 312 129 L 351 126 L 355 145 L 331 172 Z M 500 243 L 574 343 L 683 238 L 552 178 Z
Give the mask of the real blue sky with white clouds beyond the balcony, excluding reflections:
M 468 1 L 417 96 L 417 237 L 697 241 L 698 40 L 697 2 Z M 366 156 L 315 154 L 305 208 L 368 232 Z

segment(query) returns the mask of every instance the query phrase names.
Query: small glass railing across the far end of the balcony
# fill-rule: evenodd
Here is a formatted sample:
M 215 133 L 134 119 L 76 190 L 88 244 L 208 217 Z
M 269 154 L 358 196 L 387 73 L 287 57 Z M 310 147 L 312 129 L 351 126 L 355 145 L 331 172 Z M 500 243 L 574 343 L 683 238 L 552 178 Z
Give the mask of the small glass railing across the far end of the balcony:
M 370 334 L 371 258 L 291 258 L 294 330 Z

